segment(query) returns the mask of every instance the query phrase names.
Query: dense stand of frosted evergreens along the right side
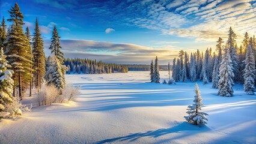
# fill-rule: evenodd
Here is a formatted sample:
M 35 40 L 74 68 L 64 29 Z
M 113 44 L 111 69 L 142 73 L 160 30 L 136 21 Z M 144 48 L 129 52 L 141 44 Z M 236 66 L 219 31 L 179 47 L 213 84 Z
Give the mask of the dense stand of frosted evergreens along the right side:
M 175 82 L 191 82 L 197 80 L 204 84 L 212 82 L 212 87 L 219 89 L 218 95 L 233 96 L 234 83 L 242 83 L 246 94 L 255 92 L 255 36 L 245 33 L 240 47 L 237 46 L 236 34 L 230 27 L 227 43 L 219 38 L 215 52 L 212 48 L 206 52 L 190 53 L 180 50 L 178 58 L 172 62 L 172 79 Z

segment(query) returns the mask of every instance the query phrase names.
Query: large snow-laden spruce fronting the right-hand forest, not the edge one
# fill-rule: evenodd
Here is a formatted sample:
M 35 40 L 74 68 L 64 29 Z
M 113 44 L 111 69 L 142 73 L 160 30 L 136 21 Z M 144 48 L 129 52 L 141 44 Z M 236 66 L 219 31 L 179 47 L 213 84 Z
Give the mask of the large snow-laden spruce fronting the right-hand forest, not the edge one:
M 233 64 L 230 58 L 230 54 L 228 53 L 228 49 L 224 50 L 224 55 L 221 62 L 221 67 L 219 68 L 219 82 L 218 82 L 218 95 L 224 97 L 232 97 L 233 96 Z

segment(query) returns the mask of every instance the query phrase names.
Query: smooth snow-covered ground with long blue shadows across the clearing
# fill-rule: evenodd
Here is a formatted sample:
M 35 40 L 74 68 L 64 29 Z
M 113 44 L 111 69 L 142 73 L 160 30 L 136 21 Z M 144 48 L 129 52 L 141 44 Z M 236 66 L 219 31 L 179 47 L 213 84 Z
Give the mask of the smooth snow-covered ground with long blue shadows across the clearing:
M 66 77 L 81 86 L 76 102 L 2 120 L 0 143 L 256 143 L 256 96 L 242 85 L 234 86 L 234 97 L 219 97 L 211 83 L 199 82 L 209 122 L 198 127 L 183 118 L 195 83 L 147 83 L 147 71 Z

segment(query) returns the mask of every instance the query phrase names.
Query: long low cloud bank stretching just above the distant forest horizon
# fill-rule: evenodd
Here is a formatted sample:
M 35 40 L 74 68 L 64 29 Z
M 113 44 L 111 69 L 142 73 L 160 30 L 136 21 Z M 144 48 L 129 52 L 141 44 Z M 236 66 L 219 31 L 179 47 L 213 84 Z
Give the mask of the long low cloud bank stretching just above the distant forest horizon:
M 44 40 L 46 54 L 49 52 L 50 40 Z M 111 43 L 93 40 L 61 40 L 62 52 L 66 58 L 91 58 L 106 62 L 126 64 L 147 64 L 155 56 L 159 56 L 160 64 L 166 64 L 177 55 L 180 47 L 164 45 L 146 47 L 129 43 Z M 189 50 L 189 52 L 192 52 Z

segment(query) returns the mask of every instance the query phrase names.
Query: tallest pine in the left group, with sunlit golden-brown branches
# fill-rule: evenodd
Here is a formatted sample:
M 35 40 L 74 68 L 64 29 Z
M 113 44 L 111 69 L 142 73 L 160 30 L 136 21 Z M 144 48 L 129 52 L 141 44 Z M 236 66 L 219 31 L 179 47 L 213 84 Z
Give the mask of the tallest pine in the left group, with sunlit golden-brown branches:
M 23 92 L 25 92 L 31 77 L 30 65 L 32 64 L 32 53 L 28 38 L 26 38 L 22 29 L 22 25 L 24 24 L 23 14 L 20 12 L 19 5 L 16 3 L 8 12 L 11 16 L 8 21 L 13 22 L 13 25 L 11 25 L 7 40 L 4 43 L 7 44 L 5 53 L 7 55 L 7 61 L 10 62 L 11 69 L 14 71 L 14 86 L 19 87 L 19 97 L 22 99 Z M 14 91 L 13 95 L 15 94 L 16 92 Z

